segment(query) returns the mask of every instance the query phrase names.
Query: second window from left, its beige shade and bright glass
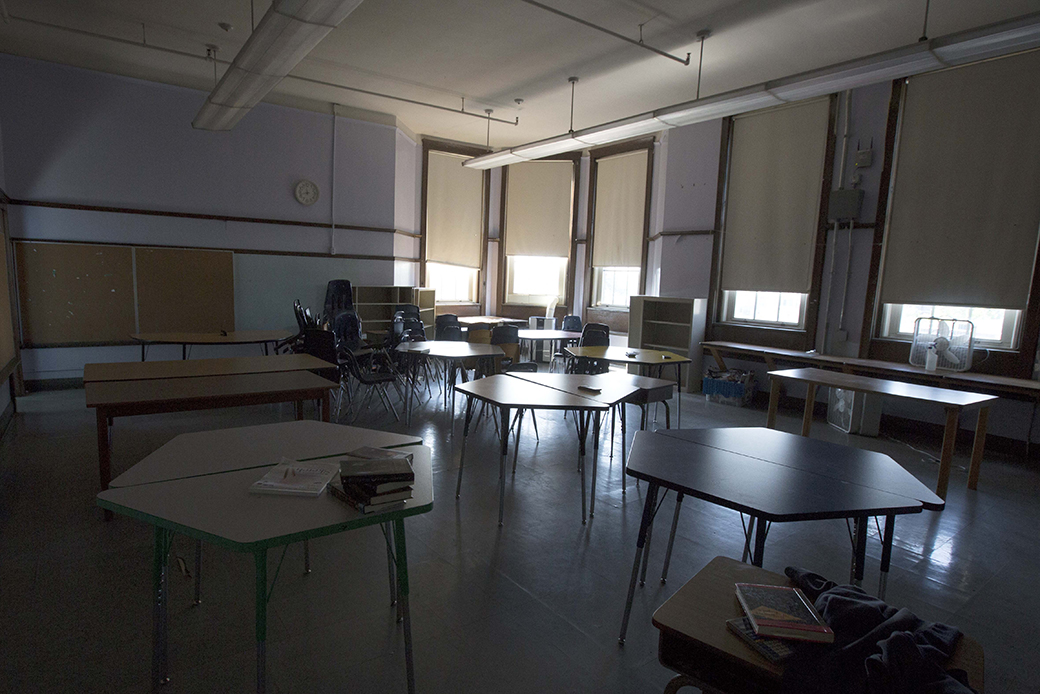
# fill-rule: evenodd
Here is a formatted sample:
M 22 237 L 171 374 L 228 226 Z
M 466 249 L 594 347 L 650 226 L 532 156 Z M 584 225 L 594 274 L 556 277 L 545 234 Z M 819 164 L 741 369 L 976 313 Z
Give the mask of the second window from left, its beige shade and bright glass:
M 566 302 L 573 210 L 572 161 L 525 161 L 506 169 L 506 304 Z

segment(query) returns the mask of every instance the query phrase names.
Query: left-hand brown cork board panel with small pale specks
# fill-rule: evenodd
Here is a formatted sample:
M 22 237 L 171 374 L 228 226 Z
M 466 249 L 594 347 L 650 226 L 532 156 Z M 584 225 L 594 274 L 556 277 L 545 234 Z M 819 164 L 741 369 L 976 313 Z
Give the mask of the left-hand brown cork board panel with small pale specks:
M 133 256 L 121 246 L 15 243 L 25 346 L 128 342 Z

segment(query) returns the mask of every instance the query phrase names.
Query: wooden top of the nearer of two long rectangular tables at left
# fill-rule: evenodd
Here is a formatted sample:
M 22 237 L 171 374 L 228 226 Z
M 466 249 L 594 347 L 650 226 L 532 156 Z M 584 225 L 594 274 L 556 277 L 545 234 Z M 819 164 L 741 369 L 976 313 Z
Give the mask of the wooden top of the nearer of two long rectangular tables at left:
M 219 407 L 213 403 L 249 395 L 331 389 L 336 384 L 310 371 L 278 371 L 147 381 L 100 381 L 87 383 L 85 387 L 87 407 L 163 405 L 185 401 Z

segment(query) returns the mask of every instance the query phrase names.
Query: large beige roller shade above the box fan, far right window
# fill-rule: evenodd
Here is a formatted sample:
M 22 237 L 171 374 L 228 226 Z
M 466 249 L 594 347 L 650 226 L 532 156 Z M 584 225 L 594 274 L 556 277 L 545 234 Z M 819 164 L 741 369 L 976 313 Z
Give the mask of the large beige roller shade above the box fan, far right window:
M 913 77 L 882 302 L 1024 309 L 1040 227 L 1040 52 Z

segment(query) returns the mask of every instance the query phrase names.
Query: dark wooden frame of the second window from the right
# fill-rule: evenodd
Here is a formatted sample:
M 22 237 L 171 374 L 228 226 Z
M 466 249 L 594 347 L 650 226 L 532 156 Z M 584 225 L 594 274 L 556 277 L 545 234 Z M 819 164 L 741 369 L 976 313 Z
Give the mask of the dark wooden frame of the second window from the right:
M 827 229 L 829 227 L 827 209 L 830 205 L 831 184 L 834 177 L 834 152 L 837 143 L 835 123 L 837 121 L 837 95 L 830 96 L 829 114 L 827 120 L 827 147 L 824 153 L 824 176 L 820 191 L 820 208 L 816 214 L 816 232 L 812 242 L 812 281 L 809 294 L 805 302 L 805 325 L 802 328 L 779 328 L 771 326 L 745 326 L 723 322 L 723 292 L 720 289 L 722 280 L 723 236 L 726 224 L 726 202 L 729 188 L 729 160 L 732 152 L 733 119 L 723 122 L 722 148 L 723 156 L 719 158 L 719 195 L 716 200 L 716 229 L 722 231 L 714 234 L 711 253 L 711 288 L 708 292 L 708 325 L 706 338 L 725 342 L 745 342 L 762 346 L 780 348 L 808 352 L 816 345 L 816 327 L 820 320 L 820 294 L 824 281 L 824 259 L 827 250 Z

